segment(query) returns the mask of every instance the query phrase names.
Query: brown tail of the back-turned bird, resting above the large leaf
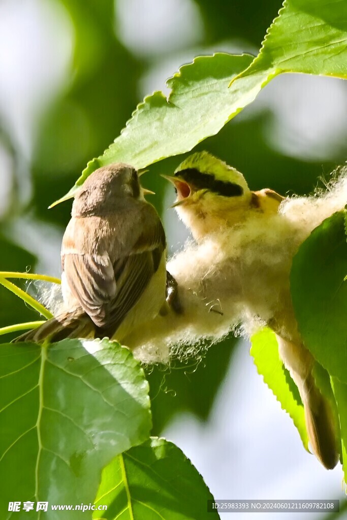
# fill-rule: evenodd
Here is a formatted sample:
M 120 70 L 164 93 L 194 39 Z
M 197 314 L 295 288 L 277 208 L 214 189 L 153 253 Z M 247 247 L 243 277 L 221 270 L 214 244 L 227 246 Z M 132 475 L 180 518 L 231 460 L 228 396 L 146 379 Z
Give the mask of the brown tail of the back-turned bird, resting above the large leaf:
M 86 314 L 76 316 L 76 313 L 64 313 L 57 318 L 51 318 L 37 329 L 24 332 L 16 337 L 12 343 L 32 341 L 42 343 L 43 341 L 57 342 L 67 338 L 94 337 L 95 326 Z

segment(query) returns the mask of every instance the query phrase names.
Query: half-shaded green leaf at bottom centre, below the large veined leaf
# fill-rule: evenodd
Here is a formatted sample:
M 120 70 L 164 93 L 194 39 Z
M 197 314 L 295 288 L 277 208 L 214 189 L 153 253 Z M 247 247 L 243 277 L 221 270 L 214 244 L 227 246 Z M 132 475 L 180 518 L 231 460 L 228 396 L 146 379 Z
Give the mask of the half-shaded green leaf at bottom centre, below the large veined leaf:
M 107 520 L 209 520 L 213 497 L 184 453 L 165 439 L 151 438 L 114 459 L 102 473 L 93 518 Z

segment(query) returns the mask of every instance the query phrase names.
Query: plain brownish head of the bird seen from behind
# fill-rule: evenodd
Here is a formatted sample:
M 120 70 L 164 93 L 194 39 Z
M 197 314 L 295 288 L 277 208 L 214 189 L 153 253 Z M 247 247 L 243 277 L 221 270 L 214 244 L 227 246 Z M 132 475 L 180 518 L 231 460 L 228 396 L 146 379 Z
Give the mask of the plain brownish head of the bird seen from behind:
M 104 214 L 126 203 L 128 199 L 144 200 L 144 194 L 153 192 L 140 185 L 141 173 L 125 163 L 98 168 L 87 177 L 76 193 L 72 214 L 74 216 L 94 212 Z

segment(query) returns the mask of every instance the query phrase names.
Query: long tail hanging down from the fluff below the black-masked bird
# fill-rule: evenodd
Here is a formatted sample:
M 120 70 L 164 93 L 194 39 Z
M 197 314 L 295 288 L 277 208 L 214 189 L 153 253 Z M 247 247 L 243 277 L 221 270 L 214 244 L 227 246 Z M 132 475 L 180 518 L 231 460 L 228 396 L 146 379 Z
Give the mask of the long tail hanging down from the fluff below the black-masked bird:
M 330 402 L 320 393 L 314 380 L 314 358 L 301 344 L 278 335 L 277 340 L 280 357 L 299 388 L 312 451 L 326 469 L 332 470 L 340 458 L 337 426 Z

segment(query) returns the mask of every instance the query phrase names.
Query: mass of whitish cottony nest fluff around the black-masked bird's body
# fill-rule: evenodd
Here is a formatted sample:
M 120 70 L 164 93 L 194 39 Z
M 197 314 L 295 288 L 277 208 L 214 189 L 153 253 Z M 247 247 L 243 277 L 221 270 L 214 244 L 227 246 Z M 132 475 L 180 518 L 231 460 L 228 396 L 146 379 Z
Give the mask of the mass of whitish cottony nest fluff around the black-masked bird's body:
M 289 292 L 294 254 L 311 231 L 347 203 L 347 168 L 326 189 L 289 197 L 277 214 L 245 211 L 240 224 L 188 242 L 168 262 L 178 284 L 182 314 L 170 310 L 133 331 L 124 343 L 135 357 L 167 363 L 197 356 L 231 330 L 246 336 L 268 324 L 298 339 Z

